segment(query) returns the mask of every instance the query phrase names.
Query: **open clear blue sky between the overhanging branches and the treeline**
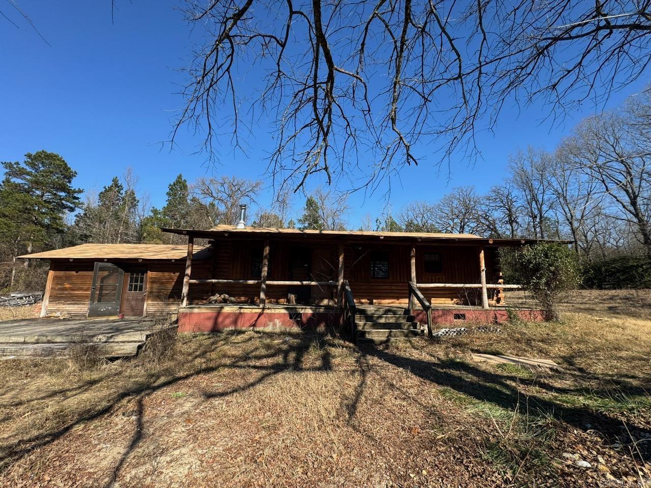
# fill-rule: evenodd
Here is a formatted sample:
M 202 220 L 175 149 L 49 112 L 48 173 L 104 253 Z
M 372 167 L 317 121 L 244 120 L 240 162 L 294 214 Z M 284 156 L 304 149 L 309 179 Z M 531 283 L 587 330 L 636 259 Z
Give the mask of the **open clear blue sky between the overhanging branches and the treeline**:
M 162 146 L 169 138 L 174 113 L 183 103 L 177 94 L 191 48 L 191 29 L 170 1 L 133 0 L 117 3 L 111 23 L 110 0 L 18 2 L 44 42 L 24 19 L 1 3 L 0 10 L 0 161 L 21 160 L 25 152 L 57 152 L 77 171 L 76 185 L 100 189 L 115 175 L 132 167 L 139 189 L 154 206 L 165 201 L 167 185 L 182 172 L 189 182 L 199 176 L 236 175 L 257 179 L 266 169 L 264 148 L 271 142 L 267 127 L 254 128 L 246 154 L 228 146 L 219 150 L 220 164 L 211 168 L 205 156 L 193 154 L 201 136 L 184 129 L 173 151 Z M 642 86 L 631 85 L 614 96 L 620 103 Z M 391 208 L 413 200 L 435 201 L 458 185 L 485 191 L 504 177 L 508 154 L 528 144 L 552 149 L 575 122 L 594 113 L 585 104 L 581 113 L 551 126 L 542 122 L 544 107 L 522 109 L 506 104 L 492 134 L 478 139 L 483 160 L 469 165 L 455 159 L 436 166 L 426 158 L 406 167 L 393 181 Z M 223 139 L 227 141 L 227 139 Z M 271 200 L 269 192 L 261 202 Z M 353 195 L 350 224 L 385 210 L 381 191 L 372 197 Z M 303 205 L 297 196 L 295 210 Z

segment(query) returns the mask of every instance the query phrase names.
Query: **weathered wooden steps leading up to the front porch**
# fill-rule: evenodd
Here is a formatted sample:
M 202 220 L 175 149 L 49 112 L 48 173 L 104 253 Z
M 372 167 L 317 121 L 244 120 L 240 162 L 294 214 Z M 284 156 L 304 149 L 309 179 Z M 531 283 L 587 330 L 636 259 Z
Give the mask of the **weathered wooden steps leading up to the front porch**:
M 422 336 L 421 324 L 405 308 L 395 306 L 359 306 L 355 314 L 358 342 L 381 344 Z

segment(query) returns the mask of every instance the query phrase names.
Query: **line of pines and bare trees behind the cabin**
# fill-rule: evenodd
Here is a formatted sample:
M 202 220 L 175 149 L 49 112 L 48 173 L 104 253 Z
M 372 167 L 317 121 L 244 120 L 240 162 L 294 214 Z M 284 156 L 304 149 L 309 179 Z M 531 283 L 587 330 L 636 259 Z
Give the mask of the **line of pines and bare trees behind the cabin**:
M 397 212 L 367 215 L 355 230 L 447 232 L 484 237 L 574 241 L 584 262 L 613 256 L 651 258 L 651 96 L 592 116 L 551 152 L 527 148 L 512 154 L 502 183 L 486 193 L 455 187 L 436 202 L 411 202 Z M 45 150 L 23 162 L 4 162 L 0 183 L 0 288 L 40 286 L 40 264 L 21 254 L 81 243 L 182 243 L 163 227 L 210 228 L 234 224 L 240 203 L 249 223 L 262 227 L 346 230 L 346 195 L 316 189 L 299 211 L 290 193 L 260 206 L 263 183 L 235 176 L 187 182 L 182 174 L 155 208 L 127 170 L 101 191 L 74 187 L 76 172 Z M 83 195 L 83 200 L 82 200 Z M 375 217 L 375 219 L 373 219 Z

